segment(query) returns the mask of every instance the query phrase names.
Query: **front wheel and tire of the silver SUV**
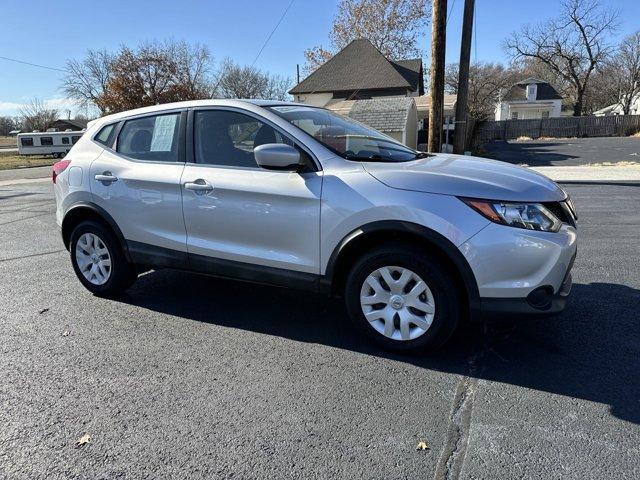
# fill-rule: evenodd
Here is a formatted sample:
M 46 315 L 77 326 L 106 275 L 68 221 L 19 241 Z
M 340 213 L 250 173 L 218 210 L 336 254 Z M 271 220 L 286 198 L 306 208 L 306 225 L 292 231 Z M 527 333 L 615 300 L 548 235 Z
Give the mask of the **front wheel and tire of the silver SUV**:
M 345 302 L 355 325 L 382 347 L 432 351 L 453 334 L 460 292 L 437 257 L 407 244 L 376 248 L 351 269 Z

